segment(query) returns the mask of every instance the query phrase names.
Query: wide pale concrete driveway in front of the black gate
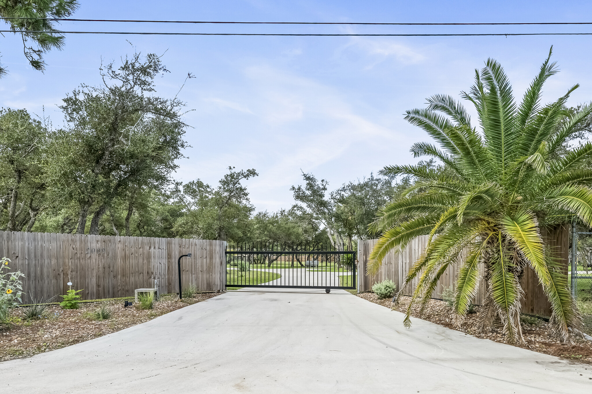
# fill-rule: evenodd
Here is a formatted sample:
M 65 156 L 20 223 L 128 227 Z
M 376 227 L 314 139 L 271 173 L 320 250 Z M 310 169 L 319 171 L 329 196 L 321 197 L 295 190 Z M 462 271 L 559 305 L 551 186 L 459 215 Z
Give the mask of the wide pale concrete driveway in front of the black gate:
M 585 369 L 587 368 L 587 369 Z M 582 376 L 580 376 L 582 374 Z M 592 369 L 465 336 L 345 291 L 228 292 L 0 363 L 15 393 L 585 393 Z

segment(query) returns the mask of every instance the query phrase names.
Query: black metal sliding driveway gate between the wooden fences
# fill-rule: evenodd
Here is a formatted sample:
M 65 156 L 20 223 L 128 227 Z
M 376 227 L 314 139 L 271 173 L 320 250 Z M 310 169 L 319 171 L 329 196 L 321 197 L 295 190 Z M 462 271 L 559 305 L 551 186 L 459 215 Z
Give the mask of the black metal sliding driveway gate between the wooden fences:
M 320 245 L 229 245 L 226 287 L 355 289 L 355 262 L 355 251 Z

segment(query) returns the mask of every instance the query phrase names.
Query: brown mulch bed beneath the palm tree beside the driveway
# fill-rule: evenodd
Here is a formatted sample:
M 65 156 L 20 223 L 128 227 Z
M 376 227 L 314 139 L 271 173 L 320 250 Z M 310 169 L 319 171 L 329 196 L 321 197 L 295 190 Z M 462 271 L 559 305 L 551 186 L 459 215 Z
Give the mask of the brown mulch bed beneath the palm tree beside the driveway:
M 391 298 L 378 299 L 374 293 L 359 293 L 358 297 L 382 305 L 383 307 L 391 308 Z M 406 313 L 407 306 L 411 301 L 411 297 L 401 296 L 394 310 Z M 475 312 L 479 311 L 480 307 L 475 307 Z M 411 316 L 422 318 L 423 320 L 431 321 L 432 323 L 443 325 L 444 327 L 453 328 L 452 325 L 452 311 L 451 307 L 445 301 L 439 299 L 431 299 L 423 315 L 417 315 L 419 306 L 414 306 Z M 413 320 L 411 320 L 413 323 Z M 485 338 L 496 342 L 507 343 L 502 334 L 502 325 L 500 320 L 494 322 L 494 326 L 488 334 L 481 334 L 477 332 L 477 313 L 468 314 L 464 323 L 460 328 L 454 328 L 462 333 L 471 334 L 478 338 Z M 556 338 L 549 336 L 549 323 L 535 317 L 523 316 L 522 333 L 526 341 L 526 345 L 513 346 L 522 347 L 538 351 L 540 353 L 551 354 L 551 356 L 561 357 L 562 359 L 570 359 L 578 362 L 592 364 L 592 341 L 587 341 L 581 337 L 573 336 L 574 344 L 568 345 L 559 342 Z

